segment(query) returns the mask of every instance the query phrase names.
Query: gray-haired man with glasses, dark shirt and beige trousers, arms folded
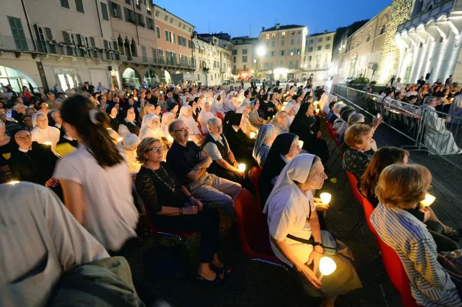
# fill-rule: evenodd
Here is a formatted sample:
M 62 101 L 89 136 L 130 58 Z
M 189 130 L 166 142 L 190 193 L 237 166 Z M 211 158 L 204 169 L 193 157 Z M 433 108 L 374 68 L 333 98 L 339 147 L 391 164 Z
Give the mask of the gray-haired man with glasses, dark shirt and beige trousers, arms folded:
M 167 163 L 180 181 L 203 202 L 218 204 L 226 215 L 234 218 L 233 199 L 241 191 L 239 183 L 207 173 L 212 159 L 193 141 L 188 141 L 188 129 L 181 119 L 168 126 L 174 142 L 167 152 Z

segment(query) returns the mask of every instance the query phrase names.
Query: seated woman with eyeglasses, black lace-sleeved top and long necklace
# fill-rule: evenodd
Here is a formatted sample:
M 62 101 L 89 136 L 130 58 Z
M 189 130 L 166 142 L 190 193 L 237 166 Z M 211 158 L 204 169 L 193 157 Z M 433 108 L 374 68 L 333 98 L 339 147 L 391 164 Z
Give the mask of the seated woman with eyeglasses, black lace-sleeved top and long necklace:
M 200 232 L 199 268 L 197 278 L 220 282 L 230 272 L 218 258 L 220 245 L 219 213 L 204 206 L 181 185 L 166 162 L 162 161 L 165 147 L 157 138 L 147 137 L 138 146 L 138 161 L 143 163 L 135 186 L 150 214 L 161 229 Z

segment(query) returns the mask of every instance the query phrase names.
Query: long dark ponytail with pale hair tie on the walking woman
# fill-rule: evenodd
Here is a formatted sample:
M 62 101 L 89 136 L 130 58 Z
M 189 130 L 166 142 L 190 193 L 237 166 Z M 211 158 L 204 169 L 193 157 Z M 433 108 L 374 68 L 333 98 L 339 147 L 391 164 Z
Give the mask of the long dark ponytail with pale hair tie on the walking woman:
M 67 98 L 61 108 L 61 117 L 74 126 L 101 167 L 112 167 L 124 161 L 106 129 L 109 127 L 108 116 L 95 110 L 87 97 L 74 95 Z

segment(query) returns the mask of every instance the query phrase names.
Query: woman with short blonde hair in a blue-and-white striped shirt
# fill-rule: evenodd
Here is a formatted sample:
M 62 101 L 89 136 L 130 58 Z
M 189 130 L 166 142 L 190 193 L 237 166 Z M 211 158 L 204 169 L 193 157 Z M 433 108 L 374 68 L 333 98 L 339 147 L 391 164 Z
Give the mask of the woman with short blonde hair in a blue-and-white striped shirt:
M 461 289 L 438 262 L 437 246 L 427 226 L 408 212 L 425 199 L 431 180 L 424 166 L 386 167 L 375 189 L 380 203 L 370 220 L 380 239 L 401 260 L 417 305 L 461 306 Z

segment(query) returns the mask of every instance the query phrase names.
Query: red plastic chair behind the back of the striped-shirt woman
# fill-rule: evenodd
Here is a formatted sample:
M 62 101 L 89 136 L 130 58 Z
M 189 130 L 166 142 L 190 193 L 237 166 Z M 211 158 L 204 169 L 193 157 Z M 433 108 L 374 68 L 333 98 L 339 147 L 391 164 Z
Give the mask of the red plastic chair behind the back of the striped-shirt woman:
M 409 277 L 396 252 L 378 237 L 378 245 L 382 254 L 383 267 L 387 271 L 388 278 L 393 286 L 401 294 L 401 304 L 404 307 L 418 307 L 411 293 Z

